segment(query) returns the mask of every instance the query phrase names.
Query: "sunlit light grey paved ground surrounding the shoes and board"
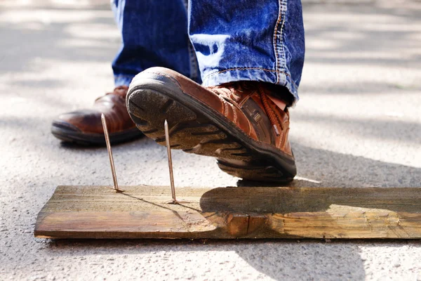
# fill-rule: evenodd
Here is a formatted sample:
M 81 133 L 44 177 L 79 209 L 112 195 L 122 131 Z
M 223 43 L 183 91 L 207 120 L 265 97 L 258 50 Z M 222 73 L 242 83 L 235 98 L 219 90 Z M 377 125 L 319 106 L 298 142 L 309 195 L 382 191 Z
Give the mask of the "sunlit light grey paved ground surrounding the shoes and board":
M 35 239 L 56 185 L 112 183 L 105 148 L 60 145 L 49 127 L 112 89 L 119 45 L 107 5 L 44 2 L 0 4 L 0 280 L 421 280 L 420 241 Z M 291 185 L 421 185 L 421 9 L 388 5 L 305 7 Z M 114 157 L 121 184 L 168 184 L 152 141 L 115 146 Z M 178 186 L 238 181 L 211 158 L 173 160 Z

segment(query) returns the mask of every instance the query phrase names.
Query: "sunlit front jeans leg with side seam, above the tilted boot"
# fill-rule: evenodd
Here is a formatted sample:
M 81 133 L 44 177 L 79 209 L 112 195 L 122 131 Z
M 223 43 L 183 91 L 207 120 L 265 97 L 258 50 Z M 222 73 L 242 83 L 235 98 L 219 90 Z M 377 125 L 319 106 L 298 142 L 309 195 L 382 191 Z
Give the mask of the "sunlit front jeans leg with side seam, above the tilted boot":
M 305 54 L 300 0 L 190 0 L 189 37 L 204 86 L 265 81 L 298 100 Z

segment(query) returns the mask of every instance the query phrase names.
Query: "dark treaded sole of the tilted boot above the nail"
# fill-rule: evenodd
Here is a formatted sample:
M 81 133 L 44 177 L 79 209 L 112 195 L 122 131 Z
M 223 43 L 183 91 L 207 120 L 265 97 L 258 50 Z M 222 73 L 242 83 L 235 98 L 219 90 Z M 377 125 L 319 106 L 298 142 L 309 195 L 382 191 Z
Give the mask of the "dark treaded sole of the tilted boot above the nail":
M 292 181 L 295 162 L 272 145 L 254 141 L 219 112 L 182 92 L 178 83 L 159 74 L 138 74 L 128 90 L 128 113 L 146 136 L 171 148 L 218 158 L 227 174 L 253 181 Z M 154 110 L 151 110 L 151 109 Z

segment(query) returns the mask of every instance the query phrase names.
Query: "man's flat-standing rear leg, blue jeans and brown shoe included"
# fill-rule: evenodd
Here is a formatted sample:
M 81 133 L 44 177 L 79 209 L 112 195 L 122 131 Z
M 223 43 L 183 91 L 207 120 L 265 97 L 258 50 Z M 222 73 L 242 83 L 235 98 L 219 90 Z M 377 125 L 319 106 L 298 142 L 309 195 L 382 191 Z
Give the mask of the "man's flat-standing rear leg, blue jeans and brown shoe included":
M 170 67 L 200 80 L 196 56 L 187 35 L 187 6 L 182 0 L 119 0 L 112 9 L 121 31 L 121 48 L 112 68 L 116 89 L 95 100 L 93 108 L 60 115 L 51 131 L 62 141 L 105 144 L 101 113 L 108 119 L 112 143 L 142 136 L 128 115 L 128 85 L 138 72 Z

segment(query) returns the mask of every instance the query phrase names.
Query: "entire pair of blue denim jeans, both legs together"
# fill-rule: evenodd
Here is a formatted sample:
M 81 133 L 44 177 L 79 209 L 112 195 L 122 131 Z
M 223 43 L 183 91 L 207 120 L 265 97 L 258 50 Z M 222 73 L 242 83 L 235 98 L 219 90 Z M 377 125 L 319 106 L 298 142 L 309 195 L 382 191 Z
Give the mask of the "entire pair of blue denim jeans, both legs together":
M 298 100 L 305 40 L 300 0 L 112 0 L 122 44 L 116 86 L 168 67 L 203 86 L 264 81 Z

